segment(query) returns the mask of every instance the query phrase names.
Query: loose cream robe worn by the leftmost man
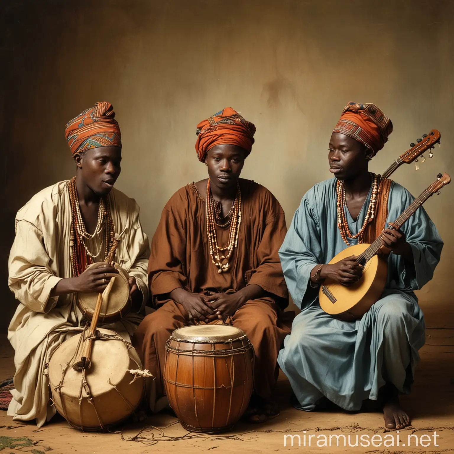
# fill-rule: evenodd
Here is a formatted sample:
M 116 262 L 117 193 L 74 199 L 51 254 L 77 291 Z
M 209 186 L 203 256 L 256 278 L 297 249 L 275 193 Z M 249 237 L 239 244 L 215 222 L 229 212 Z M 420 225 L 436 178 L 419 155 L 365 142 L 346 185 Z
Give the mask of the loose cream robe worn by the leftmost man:
M 116 262 L 134 276 L 148 297 L 147 266 L 150 248 L 139 221 L 137 203 L 116 189 L 109 194 L 115 232 L 121 233 Z M 49 379 L 45 375 L 50 356 L 62 342 L 82 330 L 82 313 L 74 294 L 50 296 L 57 282 L 72 277 L 69 255 L 71 205 L 68 181 L 38 192 L 16 216 L 16 237 L 8 263 L 9 286 L 20 304 L 8 328 L 15 349 L 15 390 L 8 408 L 14 420 L 36 419 L 38 427 L 55 414 L 50 405 Z M 98 251 L 96 241 L 90 251 Z M 104 257 L 101 253 L 98 257 Z M 143 317 L 128 314 L 121 321 L 105 325 L 127 341 Z

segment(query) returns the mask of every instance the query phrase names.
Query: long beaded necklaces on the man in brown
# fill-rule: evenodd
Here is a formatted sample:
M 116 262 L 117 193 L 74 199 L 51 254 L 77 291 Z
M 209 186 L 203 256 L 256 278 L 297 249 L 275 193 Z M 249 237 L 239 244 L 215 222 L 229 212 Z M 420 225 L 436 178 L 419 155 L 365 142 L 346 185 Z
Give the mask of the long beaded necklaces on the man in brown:
M 229 215 L 230 220 L 227 224 L 223 225 L 227 226 L 230 224 L 229 240 L 226 246 L 220 247 L 217 243 L 216 226 L 222 227 L 222 225 L 216 222 L 216 202 L 210 191 L 210 179 L 208 178 L 206 199 L 207 237 L 211 260 L 219 268 L 218 273 L 223 273 L 229 269 L 229 259 L 232 257 L 233 250 L 238 245 L 238 234 L 241 224 L 241 190 L 238 182 L 237 193 L 233 199 L 230 212 L 226 217 Z

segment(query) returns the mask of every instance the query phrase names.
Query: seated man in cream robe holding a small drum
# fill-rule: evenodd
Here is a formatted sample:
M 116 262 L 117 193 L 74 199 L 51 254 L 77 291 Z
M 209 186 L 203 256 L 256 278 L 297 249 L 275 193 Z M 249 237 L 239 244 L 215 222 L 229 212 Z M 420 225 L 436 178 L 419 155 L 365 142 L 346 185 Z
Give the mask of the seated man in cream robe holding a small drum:
M 118 271 L 104 260 L 121 234 L 116 262 L 129 274 L 133 311 L 147 301 L 149 245 L 133 199 L 113 189 L 120 174 L 121 140 L 112 106 L 96 103 L 70 121 L 66 138 L 76 176 L 38 192 L 16 216 L 9 259 L 9 286 L 20 301 L 8 339 L 15 349 L 15 390 L 8 415 L 42 426 L 55 414 L 46 369 L 57 347 L 80 332 L 77 292 L 102 292 Z M 130 313 L 105 326 L 124 339 L 142 317 Z

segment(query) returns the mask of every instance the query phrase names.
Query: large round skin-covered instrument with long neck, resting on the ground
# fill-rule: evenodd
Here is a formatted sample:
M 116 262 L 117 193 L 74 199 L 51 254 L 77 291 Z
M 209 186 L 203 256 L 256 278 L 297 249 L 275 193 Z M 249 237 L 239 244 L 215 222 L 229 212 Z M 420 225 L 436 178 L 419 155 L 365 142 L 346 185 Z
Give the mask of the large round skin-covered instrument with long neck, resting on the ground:
M 114 260 L 115 235 L 107 262 Z M 82 430 L 105 430 L 128 418 L 143 396 L 143 379 L 151 376 L 133 346 L 114 331 L 97 329 L 103 301 L 115 285 L 112 277 L 97 296 L 91 324 L 63 342 L 49 360 L 52 400 L 68 423 Z

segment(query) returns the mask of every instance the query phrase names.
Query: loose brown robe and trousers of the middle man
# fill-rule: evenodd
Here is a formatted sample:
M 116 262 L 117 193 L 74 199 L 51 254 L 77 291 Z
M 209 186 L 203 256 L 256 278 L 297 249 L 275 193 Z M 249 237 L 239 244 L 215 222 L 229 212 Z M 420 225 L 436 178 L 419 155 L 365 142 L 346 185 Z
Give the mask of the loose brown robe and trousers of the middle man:
M 164 207 L 151 244 L 148 281 L 157 311 L 145 317 L 134 334 L 133 344 L 143 366 L 155 377 L 156 396 L 165 394 L 165 342 L 172 331 L 190 324 L 181 304 L 169 293 L 184 288 L 193 293 L 238 291 L 257 284 L 266 296 L 247 301 L 232 316 L 254 346 L 255 391 L 271 398 L 276 383 L 277 354 L 288 327 L 278 320 L 288 304 L 278 250 L 286 234 L 284 212 L 276 198 L 263 186 L 240 179 L 242 221 L 238 244 L 230 258 L 230 269 L 218 273 L 207 242 L 205 201 L 195 184 L 177 191 Z M 228 242 L 229 229 L 217 228 L 219 244 Z M 151 404 L 153 406 L 153 404 Z

